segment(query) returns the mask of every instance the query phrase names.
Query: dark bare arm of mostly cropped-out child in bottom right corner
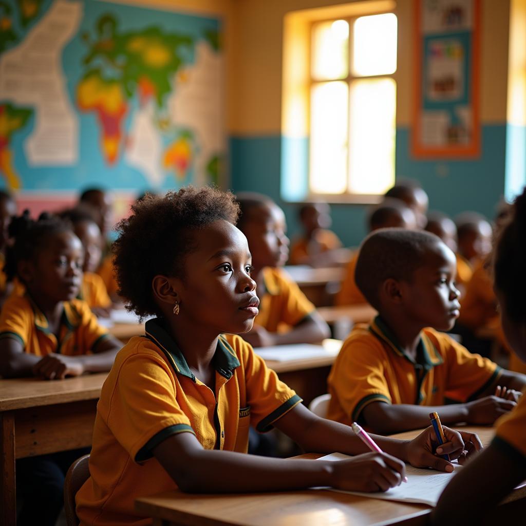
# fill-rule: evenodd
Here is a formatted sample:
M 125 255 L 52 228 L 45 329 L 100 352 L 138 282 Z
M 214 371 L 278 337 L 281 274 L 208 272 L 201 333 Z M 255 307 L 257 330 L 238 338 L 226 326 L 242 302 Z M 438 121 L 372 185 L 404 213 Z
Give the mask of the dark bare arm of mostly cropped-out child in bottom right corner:
M 431 524 L 481 524 L 524 477 L 524 459 L 517 462 L 491 444 L 447 485 L 431 514 Z

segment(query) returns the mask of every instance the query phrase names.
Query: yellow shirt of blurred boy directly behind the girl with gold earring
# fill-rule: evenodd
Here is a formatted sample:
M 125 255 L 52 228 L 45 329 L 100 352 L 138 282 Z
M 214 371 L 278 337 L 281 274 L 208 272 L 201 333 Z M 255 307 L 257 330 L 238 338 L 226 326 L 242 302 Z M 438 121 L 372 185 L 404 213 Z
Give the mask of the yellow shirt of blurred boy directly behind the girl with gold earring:
M 259 314 L 254 319 L 260 327 L 269 332 L 287 330 L 316 310 L 284 270 L 267 267 L 263 278 L 265 294 L 259 298 Z

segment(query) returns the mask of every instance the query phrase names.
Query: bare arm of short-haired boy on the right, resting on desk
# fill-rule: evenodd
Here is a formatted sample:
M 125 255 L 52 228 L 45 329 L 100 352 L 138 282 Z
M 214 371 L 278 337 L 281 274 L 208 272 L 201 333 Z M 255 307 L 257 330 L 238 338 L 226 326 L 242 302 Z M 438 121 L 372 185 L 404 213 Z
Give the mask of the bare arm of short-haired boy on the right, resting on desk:
M 363 419 L 376 433 L 392 434 L 429 425 L 429 413 L 436 411 L 442 423 L 492 424 L 515 405 L 512 400 L 489 396 L 448 406 L 413 406 L 407 403 L 371 402 L 362 410 Z

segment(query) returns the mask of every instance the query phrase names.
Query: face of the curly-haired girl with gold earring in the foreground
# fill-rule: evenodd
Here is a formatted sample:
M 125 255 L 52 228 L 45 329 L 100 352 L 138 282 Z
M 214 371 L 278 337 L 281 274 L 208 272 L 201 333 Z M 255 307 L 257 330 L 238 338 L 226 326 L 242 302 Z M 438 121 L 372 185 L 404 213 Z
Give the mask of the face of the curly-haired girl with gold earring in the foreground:
M 197 249 L 185 262 L 179 316 L 221 332 L 241 333 L 257 316 L 256 283 L 250 278 L 251 256 L 243 233 L 225 220 L 195 232 Z

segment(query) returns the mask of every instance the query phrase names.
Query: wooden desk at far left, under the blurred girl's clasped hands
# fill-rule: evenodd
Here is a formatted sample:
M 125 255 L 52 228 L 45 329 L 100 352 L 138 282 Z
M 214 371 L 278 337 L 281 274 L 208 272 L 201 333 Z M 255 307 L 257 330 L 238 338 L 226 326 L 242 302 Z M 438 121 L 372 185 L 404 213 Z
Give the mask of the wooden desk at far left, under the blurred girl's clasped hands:
M 106 373 L 0 380 L 0 524 L 15 526 L 15 459 L 90 446 Z

